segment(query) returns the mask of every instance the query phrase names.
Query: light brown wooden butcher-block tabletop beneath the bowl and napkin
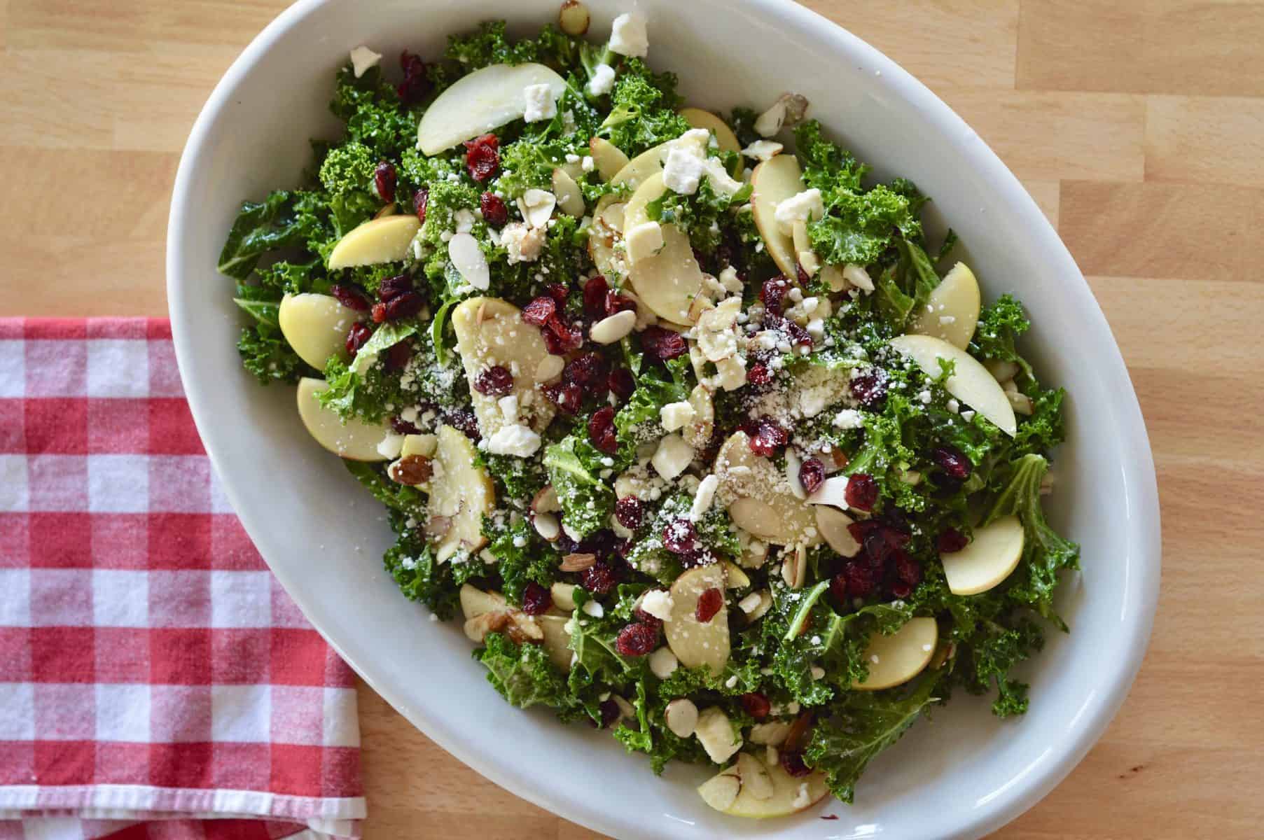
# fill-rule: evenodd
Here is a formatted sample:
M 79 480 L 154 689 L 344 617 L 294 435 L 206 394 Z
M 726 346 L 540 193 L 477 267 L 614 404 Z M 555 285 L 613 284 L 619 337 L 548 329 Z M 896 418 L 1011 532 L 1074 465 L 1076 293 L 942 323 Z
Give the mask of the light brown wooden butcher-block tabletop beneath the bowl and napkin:
M 185 136 L 284 5 L 0 0 L 0 315 L 166 315 Z M 1023 179 L 1110 318 L 1154 445 L 1165 562 L 1145 666 L 1083 764 L 996 836 L 1264 835 L 1264 3 L 809 5 L 927 82 Z M 368 688 L 360 710 L 369 837 L 595 836 Z

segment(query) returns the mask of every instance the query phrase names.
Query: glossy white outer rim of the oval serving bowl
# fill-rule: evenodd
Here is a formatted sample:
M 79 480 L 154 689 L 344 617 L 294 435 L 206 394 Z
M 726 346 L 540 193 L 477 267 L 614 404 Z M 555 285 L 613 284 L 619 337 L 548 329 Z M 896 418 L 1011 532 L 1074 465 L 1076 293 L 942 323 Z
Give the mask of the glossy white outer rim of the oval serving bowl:
M 187 312 L 183 284 L 179 282 L 179 255 L 181 241 L 185 236 L 182 215 L 185 208 L 191 203 L 188 182 L 192 177 L 191 173 L 193 167 L 196 165 L 196 150 L 201 149 L 205 135 L 210 131 L 211 124 L 219 116 L 225 104 L 231 100 L 233 91 L 239 83 L 241 83 L 243 77 L 250 66 L 254 64 L 257 58 L 265 53 L 282 35 L 282 33 L 291 27 L 292 23 L 307 16 L 322 5 L 336 1 L 341 0 L 300 0 L 277 15 L 277 18 L 273 19 L 273 21 L 269 23 L 244 51 L 241 51 L 241 54 L 238 56 L 236 61 L 233 62 L 228 72 L 224 73 L 224 77 L 211 91 L 210 97 L 207 97 L 206 104 L 202 106 L 202 110 L 190 131 L 188 140 L 185 144 L 185 150 L 181 154 L 179 168 L 176 173 L 176 183 L 172 191 L 171 215 L 167 227 L 167 298 L 168 308 L 172 316 L 172 339 L 176 349 L 176 361 L 179 366 L 182 379 L 187 360 L 192 359 L 195 352 L 195 349 L 188 344 L 187 335 L 179 327 L 182 318 L 191 315 Z M 1162 563 L 1158 485 L 1154 475 L 1154 459 L 1150 451 L 1145 422 L 1141 417 L 1140 405 L 1136 402 L 1136 392 L 1133 388 L 1133 381 L 1127 375 L 1127 368 L 1120 355 L 1119 342 L 1115 341 L 1110 325 L 1106 322 L 1106 317 L 1102 313 L 1097 299 L 1090 291 L 1088 283 L 1083 278 L 1083 273 L 1079 270 L 1079 267 L 1076 265 L 1074 259 L 1071 256 L 1071 251 L 1067 250 L 1067 246 L 1063 244 L 1062 239 L 1058 236 L 1057 231 L 1049 224 L 1044 213 L 1040 212 L 1035 201 L 1033 201 L 1026 189 L 1023 188 L 1021 183 L 1014 173 L 1010 172 L 1009 167 L 1006 167 L 996 153 L 992 152 L 986 143 L 983 143 L 982 138 L 980 138 L 975 130 L 957 115 L 956 111 L 948 107 L 943 100 L 935 96 L 913 75 L 887 58 L 878 49 L 871 47 L 867 42 L 853 35 L 851 32 L 843 29 L 828 18 L 791 3 L 790 0 L 737 1 L 761 13 L 761 16 L 776 19 L 782 25 L 790 25 L 795 30 L 817 30 L 818 35 L 823 40 L 829 42 L 832 52 L 837 54 L 861 57 L 866 66 L 875 71 L 880 71 L 878 85 L 891 88 L 892 95 L 906 100 L 910 105 L 916 107 L 939 129 L 940 136 L 948 138 L 948 143 L 954 147 L 958 153 L 966 157 L 973 165 L 978 167 L 981 172 L 991 176 L 995 188 L 1004 192 L 1007 200 L 1016 202 L 1015 210 L 1020 220 L 1024 221 L 1030 229 L 1033 241 L 1044 253 L 1045 259 L 1057 264 L 1062 269 L 1063 275 L 1067 278 L 1063 292 L 1074 297 L 1077 306 L 1091 313 L 1090 318 L 1093 321 L 1093 323 L 1090 325 L 1091 327 L 1103 330 L 1106 335 L 1111 337 L 1111 344 L 1114 345 L 1112 352 L 1098 360 L 1101 365 L 1100 375 L 1107 380 L 1115 393 L 1122 393 L 1131 397 L 1125 407 L 1125 416 L 1119 418 L 1119 424 L 1127 427 L 1133 432 L 1120 443 L 1121 447 L 1126 450 L 1126 462 L 1134 465 L 1131 472 L 1125 475 L 1125 489 L 1129 498 L 1129 509 L 1138 512 L 1138 515 L 1133 517 L 1133 519 L 1136 522 L 1135 531 L 1140 539 L 1136 556 L 1143 561 L 1136 565 L 1135 570 L 1133 567 L 1129 568 L 1129 582 L 1125 586 L 1125 594 L 1135 594 L 1138 610 L 1134 620 L 1126 627 L 1126 633 L 1129 634 L 1127 649 L 1134 652 L 1133 657 L 1120 672 L 1120 676 L 1110 686 L 1109 691 L 1100 695 L 1091 695 L 1090 701 L 1085 704 L 1085 707 L 1081 710 L 1079 715 L 1077 715 L 1077 717 L 1082 721 L 1081 725 L 1073 738 L 1057 748 L 1059 754 L 1055 757 L 1055 760 L 1043 760 L 1044 757 L 1042 757 L 1039 765 L 1030 764 L 1019 771 L 1011 782 L 997 791 L 994 791 L 985 801 L 976 805 L 976 810 L 980 811 L 977 817 L 972 819 L 966 825 L 959 826 L 959 829 L 952 835 L 944 835 L 945 837 L 978 837 L 1000 829 L 1034 806 L 1044 798 L 1049 791 L 1057 787 L 1057 784 L 1062 782 L 1062 779 L 1064 779 L 1072 769 L 1076 768 L 1097 739 L 1101 738 L 1102 733 L 1106 731 L 1106 728 L 1119 711 L 1119 707 L 1124 704 L 1124 699 L 1127 696 L 1127 692 L 1133 686 L 1133 681 L 1136 678 L 1136 673 L 1141 667 L 1141 661 L 1145 658 L 1145 649 L 1149 644 L 1150 630 L 1154 624 L 1154 611 L 1158 605 Z M 206 447 L 206 453 L 210 457 L 211 464 L 217 465 L 220 461 L 216 453 L 220 450 L 220 445 L 217 436 L 212 431 L 215 429 L 215 426 L 210 422 L 211 414 L 209 407 L 202 403 L 200 395 L 188 389 L 186 389 L 186 398 L 188 399 L 190 411 L 193 416 L 193 422 L 197 426 L 198 435 Z M 207 433 L 209 431 L 211 433 Z M 236 493 L 231 481 L 222 474 L 221 480 L 224 483 L 225 494 L 228 495 L 233 509 L 239 512 L 238 518 L 241 520 L 241 524 L 250 539 L 254 541 L 257 546 L 269 544 L 270 539 L 267 537 L 268 531 L 265 523 L 257 519 L 249 510 L 240 513 L 243 508 L 238 504 Z M 1139 522 L 1141 515 L 1150 518 L 1149 527 L 1146 527 L 1145 523 Z M 260 548 L 259 553 L 263 555 L 264 560 L 267 560 L 268 552 Z M 1153 562 L 1144 562 L 1145 558 L 1149 557 L 1153 557 Z M 312 601 L 308 597 L 305 582 L 298 577 L 293 577 L 282 570 L 272 567 L 270 563 L 269 568 L 272 568 L 282 586 L 284 586 L 286 591 L 293 597 L 295 603 L 303 611 L 303 615 L 308 616 L 312 625 L 320 630 L 320 610 L 312 608 Z M 1135 582 L 1131 581 L 1131 573 L 1134 571 L 1138 575 Z M 311 619 L 313 614 L 317 615 L 317 620 Z M 324 637 L 324 633 L 321 633 L 321 635 Z M 455 729 L 437 719 L 412 709 L 404 699 L 397 695 L 393 690 L 379 685 L 377 680 L 369 677 L 359 666 L 359 652 L 350 651 L 339 644 L 336 640 L 329 639 L 327 637 L 325 638 L 330 645 L 348 662 L 348 664 L 350 664 L 351 668 L 354 668 L 355 672 L 359 673 L 374 691 L 382 695 L 387 702 L 407 717 L 410 723 L 421 729 L 431 740 L 455 755 L 459 760 L 474 768 L 478 773 L 492 782 L 552 813 L 574 822 L 579 822 L 580 825 L 597 831 L 603 831 L 613 836 L 627 836 L 629 830 L 636 832 L 643 829 L 643 825 L 624 822 L 623 820 L 612 817 L 611 815 L 593 808 L 586 803 L 568 800 L 561 796 L 549 795 L 540 789 L 540 787 L 535 784 L 530 776 L 525 772 L 516 772 L 512 768 L 506 768 L 503 764 L 488 760 L 488 757 L 483 755 L 480 752 L 466 747 L 460 738 L 460 733 Z M 985 811 L 982 807 L 985 805 L 991 807 Z

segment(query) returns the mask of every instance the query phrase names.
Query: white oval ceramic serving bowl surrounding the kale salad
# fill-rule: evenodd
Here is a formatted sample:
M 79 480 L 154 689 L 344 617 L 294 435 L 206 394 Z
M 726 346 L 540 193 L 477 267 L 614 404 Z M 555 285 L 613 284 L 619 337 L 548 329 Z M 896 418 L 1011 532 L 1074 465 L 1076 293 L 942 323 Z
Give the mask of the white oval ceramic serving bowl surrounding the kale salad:
M 588 0 L 589 35 L 624 9 Z M 1145 653 L 1159 582 L 1159 512 L 1141 413 L 1117 346 L 1058 235 L 987 145 L 930 91 L 856 37 L 786 0 L 641 0 L 650 61 L 681 76 L 691 105 L 760 107 L 786 90 L 880 177 L 934 198 L 967 246 L 985 293 L 1016 293 L 1033 315 L 1025 351 L 1064 385 L 1068 441 L 1049 515 L 1083 546 L 1063 587 L 1069 635 L 1030 663 L 1031 707 L 999 721 L 962 695 L 865 774 L 856 805 L 743 821 L 708 808 L 694 784 L 661 777 L 608 735 L 507 705 L 470 659 L 460 628 L 427 621 L 382 568 L 380 507 L 302 431 L 293 390 L 240 368 L 240 315 L 216 256 L 243 198 L 296 184 L 310 136 L 337 124 L 326 102 L 348 51 L 437 56 L 449 33 L 508 18 L 511 32 L 556 16 L 555 0 L 302 0 L 250 43 L 211 93 L 181 159 L 167 284 L 181 375 L 226 495 L 312 624 L 396 709 L 509 791 L 617 837 L 976 837 L 1034 805 L 1085 755 Z M 418 792 L 425 768 L 418 769 Z M 713 771 L 712 771 L 713 772 Z M 837 821 L 822 822 L 822 813 Z

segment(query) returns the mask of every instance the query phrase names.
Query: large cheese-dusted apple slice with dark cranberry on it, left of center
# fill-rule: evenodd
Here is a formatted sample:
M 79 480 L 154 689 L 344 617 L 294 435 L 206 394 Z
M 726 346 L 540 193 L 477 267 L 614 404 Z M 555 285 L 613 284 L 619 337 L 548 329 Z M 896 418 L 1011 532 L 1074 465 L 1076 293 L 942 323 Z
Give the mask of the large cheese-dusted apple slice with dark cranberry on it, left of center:
M 518 307 L 501 298 L 468 298 L 453 309 L 453 331 L 456 352 L 470 383 L 470 399 L 483 437 L 492 437 L 504 426 L 525 424 L 542 432 L 554 417 L 554 404 L 544 397 L 536 381 L 540 363 L 549 356 L 549 347 L 540 330 L 522 321 Z M 499 397 L 480 394 L 474 389 L 479 374 L 492 365 L 501 365 L 513 375 L 512 394 L 517 394 L 517 411 L 507 417 Z

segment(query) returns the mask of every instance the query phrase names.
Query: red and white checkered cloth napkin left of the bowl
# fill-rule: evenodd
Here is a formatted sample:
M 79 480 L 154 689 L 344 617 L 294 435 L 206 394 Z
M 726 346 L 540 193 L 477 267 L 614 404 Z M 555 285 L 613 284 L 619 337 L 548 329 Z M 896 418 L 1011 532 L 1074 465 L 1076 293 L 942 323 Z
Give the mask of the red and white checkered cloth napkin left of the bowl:
M 359 743 L 169 325 L 0 320 L 0 840 L 356 836 Z

